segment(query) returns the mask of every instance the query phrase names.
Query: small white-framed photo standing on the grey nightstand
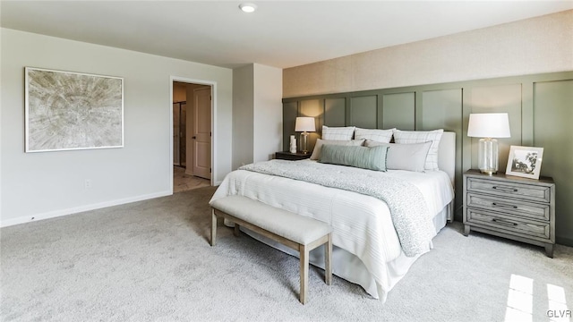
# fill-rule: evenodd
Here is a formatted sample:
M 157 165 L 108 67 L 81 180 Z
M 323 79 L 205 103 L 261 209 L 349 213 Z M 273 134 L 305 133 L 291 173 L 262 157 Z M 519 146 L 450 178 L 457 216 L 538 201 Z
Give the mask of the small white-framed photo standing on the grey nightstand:
M 505 174 L 539 179 L 543 148 L 511 146 Z

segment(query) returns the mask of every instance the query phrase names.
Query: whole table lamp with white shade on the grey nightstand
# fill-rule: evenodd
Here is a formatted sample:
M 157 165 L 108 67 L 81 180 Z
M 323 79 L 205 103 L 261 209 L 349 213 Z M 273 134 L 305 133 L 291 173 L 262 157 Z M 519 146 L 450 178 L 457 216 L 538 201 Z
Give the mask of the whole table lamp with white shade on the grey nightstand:
M 482 138 L 478 143 L 477 165 L 482 174 L 496 174 L 499 167 L 498 140 L 509 138 L 509 116 L 507 113 L 469 114 L 467 136 Z

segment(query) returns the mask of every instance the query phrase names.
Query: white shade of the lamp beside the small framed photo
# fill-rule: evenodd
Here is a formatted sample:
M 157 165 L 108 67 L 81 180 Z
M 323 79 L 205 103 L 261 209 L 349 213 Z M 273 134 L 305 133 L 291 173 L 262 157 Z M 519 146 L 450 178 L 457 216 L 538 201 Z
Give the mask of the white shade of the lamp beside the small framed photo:
M 467 136 L 475 138 L 510 138 L 508 114 L 469 114 Z

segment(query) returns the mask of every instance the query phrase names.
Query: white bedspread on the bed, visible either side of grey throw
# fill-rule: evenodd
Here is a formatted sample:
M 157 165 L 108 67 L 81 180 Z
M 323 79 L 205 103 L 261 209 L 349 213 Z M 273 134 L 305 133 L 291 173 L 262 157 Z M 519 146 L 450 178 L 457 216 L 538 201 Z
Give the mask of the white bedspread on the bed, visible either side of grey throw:
M 453 199 L 454 192 L 450 178 L 444 172 L 415 173 L 390 170 L 388 173 L 414 184 L 422 192 L 432 217 L 440 213 Z M 237 194 L 303 216 L 311 216 L 332 225 L 333 244 L 360 258 L 362 263 L 359 264 L 363 264 L 367 270 L 353 275 L 352 272 L 345 272 L 346 267 L 335 265 L 333 273 L 350 282 L 361 284 L 365 291 L 375 298 L 384 298 L 386 292 L 397 282 L 394 276 L 397 271 L 405 269 L 407 271 L 415 260 L 415 258 L 405 258 L 392 225 L 389 208 L 380 199 L 352 191 L 244 170 L 228 174 L 212 199 Z M 336 250 L 334 256 L 337 256 Z M 336 261 L 336 258 L 334 260 Z M 402 262 L 410 264 L 400 265 Z M 369 276 L 360 276 L 361 274 L 371 277 L 369 279 Z M 375 285 L 368 282 L 372 279 Z

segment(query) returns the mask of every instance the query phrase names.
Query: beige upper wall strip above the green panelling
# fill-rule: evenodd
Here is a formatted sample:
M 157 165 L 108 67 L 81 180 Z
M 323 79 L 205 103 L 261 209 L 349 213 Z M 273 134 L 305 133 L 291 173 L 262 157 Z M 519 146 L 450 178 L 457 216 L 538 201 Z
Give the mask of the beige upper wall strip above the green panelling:
M 573 10 L 283 71 L 283 97 L 573 70 Z

